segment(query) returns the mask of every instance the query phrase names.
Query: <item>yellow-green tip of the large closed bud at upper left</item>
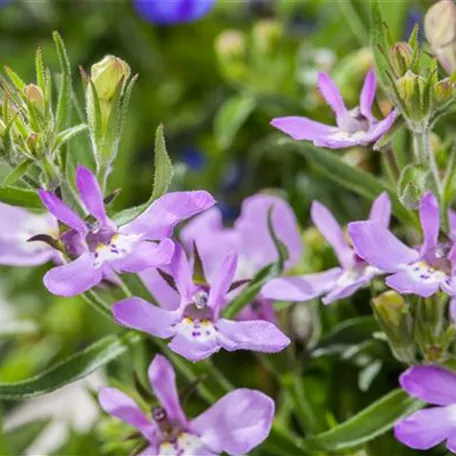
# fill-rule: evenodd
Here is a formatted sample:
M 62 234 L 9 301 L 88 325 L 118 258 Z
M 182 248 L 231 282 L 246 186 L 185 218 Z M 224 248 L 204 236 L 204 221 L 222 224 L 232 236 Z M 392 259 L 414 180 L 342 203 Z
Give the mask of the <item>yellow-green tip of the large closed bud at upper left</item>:
M 91 79 L 100 100 L 109 101 L 116 92 L 122 79 L 130 75 L 130 67 L 126 62 L 113 55 L 107 55 L 92 65 Z

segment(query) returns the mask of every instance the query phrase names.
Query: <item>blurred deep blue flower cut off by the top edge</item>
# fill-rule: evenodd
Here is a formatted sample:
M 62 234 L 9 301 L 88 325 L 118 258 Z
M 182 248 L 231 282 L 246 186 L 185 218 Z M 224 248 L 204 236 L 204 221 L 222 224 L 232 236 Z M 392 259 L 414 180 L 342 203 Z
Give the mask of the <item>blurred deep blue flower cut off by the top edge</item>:
M 154 24 L 193 22 L 209 12 L 215 0 L 133 0 L 138 13 Z

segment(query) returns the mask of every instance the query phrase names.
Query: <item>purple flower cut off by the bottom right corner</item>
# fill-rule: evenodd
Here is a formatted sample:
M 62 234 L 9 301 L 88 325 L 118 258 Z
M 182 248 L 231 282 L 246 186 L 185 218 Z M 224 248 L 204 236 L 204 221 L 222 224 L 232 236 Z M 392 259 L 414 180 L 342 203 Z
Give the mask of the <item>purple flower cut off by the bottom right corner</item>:
M 438 366 L 414 366 L 399 381 L 411 396 L 437 407 L 419 410 L 397 423 L 396 438 L 417 450 L 446 440 L 447 448 L 456 453 L 456 374 Z

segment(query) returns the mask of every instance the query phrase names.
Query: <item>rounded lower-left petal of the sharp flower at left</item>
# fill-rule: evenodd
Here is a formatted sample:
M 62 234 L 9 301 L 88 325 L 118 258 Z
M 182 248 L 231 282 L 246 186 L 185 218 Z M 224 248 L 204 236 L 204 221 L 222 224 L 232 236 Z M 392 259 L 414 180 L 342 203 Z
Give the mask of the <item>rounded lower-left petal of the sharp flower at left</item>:
M 71 263 L 52 268 L 44 276 L 46 288 L 58 296 L 76 296 L 101 282 L 102 271 L 95 267 L 94 256 L 84 252 Z

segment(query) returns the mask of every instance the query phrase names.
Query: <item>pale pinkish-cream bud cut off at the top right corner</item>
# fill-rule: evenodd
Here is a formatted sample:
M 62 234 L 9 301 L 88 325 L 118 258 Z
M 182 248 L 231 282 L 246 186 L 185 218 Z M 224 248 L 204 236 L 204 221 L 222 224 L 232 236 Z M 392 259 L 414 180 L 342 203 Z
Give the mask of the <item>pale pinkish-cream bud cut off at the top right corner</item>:
M 448 73 L 456 70 L 456 5 L 440 0 L 424 18 L 424 32 L 431 48 Z

